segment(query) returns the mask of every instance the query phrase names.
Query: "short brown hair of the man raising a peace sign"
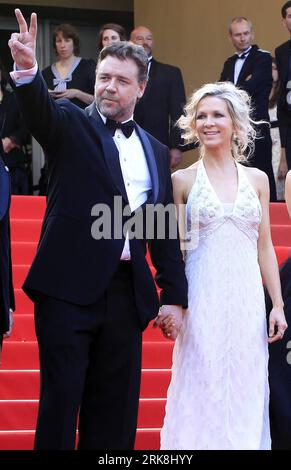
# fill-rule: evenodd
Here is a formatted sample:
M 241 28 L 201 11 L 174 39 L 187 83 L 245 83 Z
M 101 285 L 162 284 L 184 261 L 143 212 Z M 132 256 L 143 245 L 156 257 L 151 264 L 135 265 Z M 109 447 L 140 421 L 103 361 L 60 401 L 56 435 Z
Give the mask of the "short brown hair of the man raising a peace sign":
M 138 68 L 138 81 L 143 83 L 147 81 L 148 56 L 142 46 L 133 44 L 132 42 L 115 42 L 104 47 L 99 54 L 97 69 L 105 57 L 116 57 L 119 60 L 133 60 Z

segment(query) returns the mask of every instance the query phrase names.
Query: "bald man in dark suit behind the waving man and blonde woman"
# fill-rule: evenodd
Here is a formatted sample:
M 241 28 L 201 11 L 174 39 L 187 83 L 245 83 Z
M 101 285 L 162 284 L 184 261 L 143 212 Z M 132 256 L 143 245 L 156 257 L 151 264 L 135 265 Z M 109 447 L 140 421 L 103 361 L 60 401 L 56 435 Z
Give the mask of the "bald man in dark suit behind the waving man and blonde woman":
M 130 34 L 134 44 L 143 46 L 148 55 L 148 84 L 138 100 L 134 119 L 143 129 L 170 149 L 171 168 L 182 161 L 183 141 L 175 123 L 183 114 L 185 89 L 181 71 L 173 65 L 162 64 L 152 57 L 153 34 L 138 26 Z

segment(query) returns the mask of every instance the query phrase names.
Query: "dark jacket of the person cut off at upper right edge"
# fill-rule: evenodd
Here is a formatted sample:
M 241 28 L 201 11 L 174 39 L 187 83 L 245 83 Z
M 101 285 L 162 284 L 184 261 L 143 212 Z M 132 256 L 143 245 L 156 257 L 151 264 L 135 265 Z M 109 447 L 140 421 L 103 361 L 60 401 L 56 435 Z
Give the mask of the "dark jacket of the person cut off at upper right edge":
M 286 85 L 288 82 L 289 60 L 291 54 L 290 48 L 291 41 L 287 41 L 275 49 L 275 57 L 280 81 L 277 114 L 282 147 L 285 147 L 286 145 L 287 127 L 291 127 L 291 112 L 288 110 L 286 105 Z

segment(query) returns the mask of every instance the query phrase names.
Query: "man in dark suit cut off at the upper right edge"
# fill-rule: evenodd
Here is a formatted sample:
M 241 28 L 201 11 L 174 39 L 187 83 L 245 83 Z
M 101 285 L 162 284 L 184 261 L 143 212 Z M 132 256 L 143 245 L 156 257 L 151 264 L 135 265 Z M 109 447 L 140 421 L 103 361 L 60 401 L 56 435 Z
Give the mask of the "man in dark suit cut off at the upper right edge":
M 281 9 L 283 24 L 291 34 L 291 1 L 284 3 Z M 281 147 L 287 167 L 291 169 L 291 41 L 284 42 L 275 49 L 276 64 L 280 89 L 278 96 L 278 121 Z M 286 174 L 287 167 L 284 173 Z M 282 177 L 285 176 L 284 173 Z

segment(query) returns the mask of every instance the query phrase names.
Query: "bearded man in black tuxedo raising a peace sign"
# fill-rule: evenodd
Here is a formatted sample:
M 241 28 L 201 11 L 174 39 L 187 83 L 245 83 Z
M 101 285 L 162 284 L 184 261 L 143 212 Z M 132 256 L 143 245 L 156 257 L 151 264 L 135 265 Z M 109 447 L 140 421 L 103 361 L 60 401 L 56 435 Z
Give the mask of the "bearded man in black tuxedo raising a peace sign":
M 37 70 L 36 14 L 28 29 L 15 13 L 20 33 L 9 41 L 11 76 L 28 128 L 47 155 L 49 177 L 41 239 L 24 283 L 35 302 L 40 353 L 35 448 L 74 448 L 80 411 L 79 449 L 130 449 L 142 330 L 159 310 L 147 240 L 161 287 L 157 322 L 173 314 L 178 328 L 187 304 L 171 214 L 163 236 L 156 230 L 159 212 L 152 224 L 139 219 L 139 236 L 132 225 L 150 203 L 161 209 L 173 202 L 168 149 L 130 120 L 145 89 L 147 57 L 130 43 L 110 45 L 100 53 L 95 102 L 86 110 L 55 102 Z

